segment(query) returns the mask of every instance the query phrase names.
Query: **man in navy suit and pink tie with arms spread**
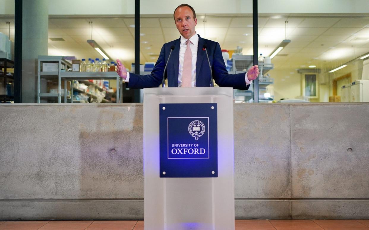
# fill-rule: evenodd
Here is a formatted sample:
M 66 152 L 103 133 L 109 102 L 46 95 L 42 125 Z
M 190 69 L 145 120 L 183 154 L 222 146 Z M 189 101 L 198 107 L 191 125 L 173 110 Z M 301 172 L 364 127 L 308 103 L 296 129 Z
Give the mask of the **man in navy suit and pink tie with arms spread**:
M 117 73 L 124 79 L 127 88 L 158 87 L 162 83 L 165 64 L 168 61 L 170 50 L 173 49 L 173 47 L 174 49 L 172 50 L 165 73 L 168 78 L 169 87 L 182 87 L 186 46 L 189 46 L 192 52 L 189 54 L 190 56 L 192 54 L 192 57 L 187 56 L 186 59 L 189 60 L 189 58 L 192 58 L 192 62 L 190 61 L 192 78 L 190 85 L 192 87 L 210 86 L 211 73 L 205 48 L 208 52 L 213 78 L 215 83 L 219 86 L 247 90 L 251 81 L 258 77 L 259 68 L 257 65 L 251 67 L 246 73 L 228 74 L 219 43 L 203 39 L 196 33 L 195 26 L 197 24 L 197 18 L 191 6 L 187 4 L 178 6 L 174 11 L 173 17 L 181 36 L 179 39 L 163 45 L 158 61 L 156 61 L 151 74 L 138 75 L 129 73 L 121 61 L 117 59 Z M 189 44 L 186 45 L 187 40 L 189 40 L 189 42 L 187 42 Z M 186 71 L 188 71 L 188 69 L 187 65 Z M 189 86 L 189 84 L 184 85 Z

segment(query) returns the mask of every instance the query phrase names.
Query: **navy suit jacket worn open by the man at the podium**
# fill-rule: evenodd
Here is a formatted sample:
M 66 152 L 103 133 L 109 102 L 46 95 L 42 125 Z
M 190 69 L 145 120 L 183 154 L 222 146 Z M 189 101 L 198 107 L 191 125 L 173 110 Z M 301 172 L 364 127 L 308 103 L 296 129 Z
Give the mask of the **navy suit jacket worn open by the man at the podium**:
M 196 61 L 196 87 L 210 86 L 210 68 L 203 45 L 207 45 L 210 65 L 213 71 L 215 83 L 221 87 L 232 87 L 235 89 L 247 90 L 249 85 L 245 82 L 245 73 L 228 74 L 225 68 L 222 52 L 218 42 L 203 39 L 199 35 L 199 46 L 197 48 Z M 174 50 L 170 55 L 170 60 L 166 68 L 166 78 L 168 78 L 169 87 L 178 86 L 178 66 L 179 66 L 179 46 L 180 38 L 165 43 L 160 51 L 158 61 L 154 66 L 151 74 L 138 75 L 130 72 L 130 79 L 127 88 L 152 88 L 158 87 L 162 83 L 163 71 L 166 61 L 168 61 L 170 47 L 174 45 Z

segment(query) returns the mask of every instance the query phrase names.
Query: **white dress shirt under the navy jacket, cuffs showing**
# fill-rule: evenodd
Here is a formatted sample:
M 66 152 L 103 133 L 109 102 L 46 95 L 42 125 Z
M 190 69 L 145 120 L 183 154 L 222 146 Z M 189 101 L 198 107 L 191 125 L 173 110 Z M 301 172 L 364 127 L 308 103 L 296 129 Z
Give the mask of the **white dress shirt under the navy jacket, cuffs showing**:
M 184 62 L 184 52 L 186 52 L 187 45 L 186 41 L 187 39 L 184 38 L 181 35 L 180 38 L 180 46 L 179 46 L 179 65 L 178 65 L 178 87 L 182 86 L 182 72 L 183 72 L 183 62 Z M 190 49 L 192 53 L 192 70 L 191 70 L 191 77 L 192 82 L 191 86 L 196 87 L 196 61 L 197 61 L 197 47 L 199 46 L 199 36 L 197 36 L 197 33 L 195 33 L 190 39 Z M 128 82 L 130 80 L 130 73 L 127 72 L 127 78 L 125 78 L 125 82 Z M 245 73 L 245 82 L 246 85 L 251 84 L 251 81 L 247 78 L 247 72 Z

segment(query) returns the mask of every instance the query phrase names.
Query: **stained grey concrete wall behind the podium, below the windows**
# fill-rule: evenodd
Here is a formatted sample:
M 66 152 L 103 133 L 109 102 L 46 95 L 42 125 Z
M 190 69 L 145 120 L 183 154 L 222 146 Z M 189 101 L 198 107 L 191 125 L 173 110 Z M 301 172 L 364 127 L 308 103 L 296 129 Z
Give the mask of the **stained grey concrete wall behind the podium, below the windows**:
M 0 220 L 143 219 L 142 112 L 1 105 Z M 236 218 L 368 219 L 368 115 L 368 103 L 235 104 Z

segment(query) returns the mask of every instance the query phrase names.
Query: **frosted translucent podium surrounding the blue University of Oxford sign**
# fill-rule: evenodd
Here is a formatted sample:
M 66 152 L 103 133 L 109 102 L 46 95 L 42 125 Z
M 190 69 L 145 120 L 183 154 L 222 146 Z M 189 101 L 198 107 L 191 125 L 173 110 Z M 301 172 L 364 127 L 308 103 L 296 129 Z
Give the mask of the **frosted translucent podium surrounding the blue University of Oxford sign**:
M 159 177 L 159 104 L 217 103 L 218 177 Z M 233 89 L 144 89 L 145 230 L 234 230 Z

